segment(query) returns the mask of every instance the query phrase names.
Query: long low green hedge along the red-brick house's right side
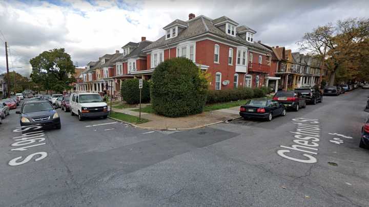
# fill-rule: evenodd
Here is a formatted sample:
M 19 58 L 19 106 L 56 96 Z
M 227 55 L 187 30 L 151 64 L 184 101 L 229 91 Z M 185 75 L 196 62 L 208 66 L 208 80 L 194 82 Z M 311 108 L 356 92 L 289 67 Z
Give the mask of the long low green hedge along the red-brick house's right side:
M 207 103 L 220 103 L 228 101 L 237 101 L 251 99 L 254 97 L 254 91 L 251 88 L 237 88 L 226 90 L 210 90 Z

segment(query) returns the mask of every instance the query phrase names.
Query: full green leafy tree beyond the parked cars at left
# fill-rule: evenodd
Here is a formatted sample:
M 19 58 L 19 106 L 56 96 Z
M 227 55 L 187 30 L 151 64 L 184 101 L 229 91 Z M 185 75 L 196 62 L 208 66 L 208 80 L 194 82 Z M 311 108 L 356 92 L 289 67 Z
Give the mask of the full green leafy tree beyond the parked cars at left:
M 73 83 L 75 67 L 64 48 L 44 51 L 30 60 L 32 81 L 42 85 L 45 90 L 61 92 L 70 89 Z

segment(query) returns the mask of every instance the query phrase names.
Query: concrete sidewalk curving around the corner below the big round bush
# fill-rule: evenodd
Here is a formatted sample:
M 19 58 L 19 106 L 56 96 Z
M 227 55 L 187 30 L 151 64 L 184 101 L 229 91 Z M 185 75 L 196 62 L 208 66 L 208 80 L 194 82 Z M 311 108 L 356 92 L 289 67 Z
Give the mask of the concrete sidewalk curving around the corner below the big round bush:
M 113 108 L 113 110 L 116 112 L 126 113 L 138 117 L 139 113 L 137 111 L 132 111 L 132 109 L 136 108 L 126 108 L 126 109 Z M 239 106 L 227 109 L 207 111 L 200 114 L 179 118 L 168 118 L 153 113 L 141 113 L 142 118 L 148 119 L 150 121 L 144 124 L 137 124 L 135 126 L 157 130 L 194 129 L 221 123 L 227 120 L 237 119 L 240 117 L 238 112 Z

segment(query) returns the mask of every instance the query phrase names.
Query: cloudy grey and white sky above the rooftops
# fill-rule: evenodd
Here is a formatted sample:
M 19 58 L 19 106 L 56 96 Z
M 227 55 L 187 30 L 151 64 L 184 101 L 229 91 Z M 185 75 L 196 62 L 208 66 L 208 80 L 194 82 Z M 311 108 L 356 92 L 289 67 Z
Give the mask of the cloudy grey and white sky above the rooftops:
M 45 50 L 65 48 L 84 66 L 114 53 L 141 36 L 156 40 L 162 27 L 189 13 L 217 18 L 226 15 L 257 31 L 255 40 L 298 51 L 305 32 L 327 22 L 369 17 L 364 1 L 7 1 L 0 0 L 0 74 L 5 72 L 4 40 L 10 70 L 29 75 L 29 59 Z M 4 34 L 4 36 L 2 35 Z M 21 68 L 18 68 L 21 67 Z

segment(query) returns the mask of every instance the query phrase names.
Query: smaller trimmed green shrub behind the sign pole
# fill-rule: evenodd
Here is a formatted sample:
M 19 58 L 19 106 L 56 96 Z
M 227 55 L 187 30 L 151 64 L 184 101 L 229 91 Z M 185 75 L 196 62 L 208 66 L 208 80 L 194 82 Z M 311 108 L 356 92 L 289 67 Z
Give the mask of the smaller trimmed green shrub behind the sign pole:
M 128 79 L 121 83 L 120 94 L 128 104 L 139 103 L 138 79 Z M 142 84 L 142 103 L 150 102 L 150 84 L 144 80 Z

